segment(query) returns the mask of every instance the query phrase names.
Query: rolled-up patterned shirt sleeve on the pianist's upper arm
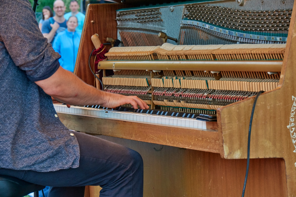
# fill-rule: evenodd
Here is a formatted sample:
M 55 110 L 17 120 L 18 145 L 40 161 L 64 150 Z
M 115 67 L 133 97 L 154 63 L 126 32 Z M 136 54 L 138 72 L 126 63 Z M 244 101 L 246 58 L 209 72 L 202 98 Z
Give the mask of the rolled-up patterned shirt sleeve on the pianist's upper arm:
M 29 1 L 9 1 L 0 5 L 0 41 L 31 81 L 46 79 L 59 68 L 60 55 L 40 32 Z

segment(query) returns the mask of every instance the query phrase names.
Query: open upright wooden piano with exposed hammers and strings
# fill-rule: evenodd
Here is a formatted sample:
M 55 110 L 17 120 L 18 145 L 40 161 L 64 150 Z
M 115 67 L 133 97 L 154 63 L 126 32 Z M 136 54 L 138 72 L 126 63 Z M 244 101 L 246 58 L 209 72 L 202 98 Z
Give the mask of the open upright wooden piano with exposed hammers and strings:
M 116 2 L 87 6 L 74 72 L 150 108 L 56 105 L 65 126 L 138 151 L 145 197 L 229 197 L 242 195 L 252 115 L 244 196 L 296 196 L 293 2 Z M 93 35 L 108 51 L 98 64 Z

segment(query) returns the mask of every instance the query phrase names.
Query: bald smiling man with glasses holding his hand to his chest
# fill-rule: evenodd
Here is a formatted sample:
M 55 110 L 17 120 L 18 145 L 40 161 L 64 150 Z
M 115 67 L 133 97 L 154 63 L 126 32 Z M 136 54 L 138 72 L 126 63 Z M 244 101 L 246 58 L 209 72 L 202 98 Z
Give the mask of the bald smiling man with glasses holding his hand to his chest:
M 65 4 L 62 0 L 54 1 L 55 16 L 50 17 L 42 25 L 42 34 L 47 38 L 48 43 L 52 43 L 57 33 L 64 31 L 67 28 L 65 14 Z

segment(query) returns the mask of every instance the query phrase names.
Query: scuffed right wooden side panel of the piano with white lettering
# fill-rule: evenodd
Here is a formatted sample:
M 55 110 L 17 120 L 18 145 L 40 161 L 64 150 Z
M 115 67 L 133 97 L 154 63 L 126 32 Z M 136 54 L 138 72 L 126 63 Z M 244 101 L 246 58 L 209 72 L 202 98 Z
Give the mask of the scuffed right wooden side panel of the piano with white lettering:
M 284 158 L 288 196 L 296 196 L 296 26 L 294 5 L 281 71 L 281 86 L 258 97 L 252 122 L 251 158 Z M 249 121 L 254 97 L 218 110 L 221 155 L 247 158 Z

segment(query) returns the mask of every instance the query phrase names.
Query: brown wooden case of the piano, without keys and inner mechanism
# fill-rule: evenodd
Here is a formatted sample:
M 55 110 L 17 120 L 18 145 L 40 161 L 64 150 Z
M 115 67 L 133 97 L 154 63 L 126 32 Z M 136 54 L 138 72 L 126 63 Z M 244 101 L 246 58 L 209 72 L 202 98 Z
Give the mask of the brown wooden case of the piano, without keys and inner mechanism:
M 87 67 L 100 40 L 117 38 L 115 11 L 125 4 L 89 4 L 75 66 L 88 84 Z M 296 11 L 296 7 L 294 6 Z M 293 12 L 281 69 L 280 85 L 258 97 L 252 122 L 250 169 L 245 196 L 296 196 L 296 26 Z M 91 62 L 94 61 L 91 57 Z M 128 146 L 144 160 L 144 196 L 241 196 L 247 165 L 247 139 L 254 97 L 217 110 L 217 124 L 206 130 L 132 123 L 59 113 L 69 129 Z M 164 146 L 162 146 L 164 145 Z M 89 196 L 99 196 L 90 186 Z

